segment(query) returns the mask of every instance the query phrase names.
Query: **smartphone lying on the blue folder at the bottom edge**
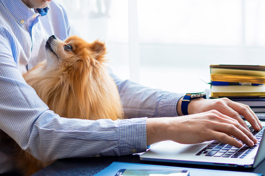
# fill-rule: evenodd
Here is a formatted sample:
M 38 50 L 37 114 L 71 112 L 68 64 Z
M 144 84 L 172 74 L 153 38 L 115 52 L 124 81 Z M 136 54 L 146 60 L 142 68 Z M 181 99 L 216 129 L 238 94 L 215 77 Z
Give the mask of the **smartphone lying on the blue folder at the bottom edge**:
M 115 176 L 189 176 L 188 170 L 120 169 Z

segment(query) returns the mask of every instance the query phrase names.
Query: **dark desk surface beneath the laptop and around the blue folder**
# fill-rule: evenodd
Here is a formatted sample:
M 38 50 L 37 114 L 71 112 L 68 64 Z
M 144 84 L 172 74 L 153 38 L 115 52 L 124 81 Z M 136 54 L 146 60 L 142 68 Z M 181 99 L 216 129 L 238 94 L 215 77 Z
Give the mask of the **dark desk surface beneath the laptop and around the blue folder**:
M 265 175 L 265 160 L 258 165 L 255 169 L 253 168 L 234 168 L 234 167 L 222 167 L 222 166 L 206 166 L 206 165 L 191 165 L 191 164 L 178 164 L 178 163 L 162 163 L 162 162 L 150 162 L 141 161 L 138 155 L 126 155 L 126 156 L 105 156 L 99 158 L 66 158 L 60 159 L 51 165 L 45 167 L 39 172 L 35 173 L 34 176 L 42 175 L 60 175 L 60 176 L 72 176 L 72 175 L 84 175 L 92 176 L 97 172 L 110 165 L 113 161 L 127 162 L 127 163 L 142 163 L 142 164 L 153 164 L 153 165 L 167 165 L 177 167 L 192 167 L 192 168 L 203 168 L 203 169 L 214 169 L 214 170 L 231 170 L 241 172 L 256 172 Z

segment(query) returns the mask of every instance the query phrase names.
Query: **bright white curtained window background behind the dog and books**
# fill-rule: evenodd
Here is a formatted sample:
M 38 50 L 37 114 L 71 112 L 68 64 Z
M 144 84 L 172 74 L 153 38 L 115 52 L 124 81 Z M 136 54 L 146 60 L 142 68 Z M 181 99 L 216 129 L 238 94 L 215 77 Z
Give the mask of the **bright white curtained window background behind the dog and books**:
M 265 65 L 264 0 L 57 0 L 122 79 L 204 90 L 211 64 Z

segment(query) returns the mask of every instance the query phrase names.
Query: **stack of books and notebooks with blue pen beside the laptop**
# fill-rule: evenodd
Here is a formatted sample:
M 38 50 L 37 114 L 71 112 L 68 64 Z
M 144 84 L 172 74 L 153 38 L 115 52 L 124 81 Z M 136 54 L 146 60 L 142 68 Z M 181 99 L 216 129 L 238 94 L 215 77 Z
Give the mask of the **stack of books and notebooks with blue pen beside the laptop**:
M 227 97 L 265 112 L 265 66 L 210 65 L 210 98 Z

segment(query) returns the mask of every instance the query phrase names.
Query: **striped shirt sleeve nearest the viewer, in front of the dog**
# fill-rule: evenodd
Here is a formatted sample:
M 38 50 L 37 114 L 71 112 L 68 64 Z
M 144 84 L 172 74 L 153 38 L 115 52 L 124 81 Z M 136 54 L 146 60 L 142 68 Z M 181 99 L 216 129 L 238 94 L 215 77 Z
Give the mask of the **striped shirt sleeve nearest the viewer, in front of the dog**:
M 0 129 L 23 150 L 44 162 L 146 151 L 146 118 L 92 121 L 50 111 L 20 74 L 11 38 L 0 29 Z

